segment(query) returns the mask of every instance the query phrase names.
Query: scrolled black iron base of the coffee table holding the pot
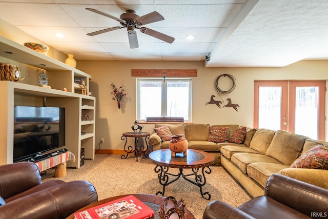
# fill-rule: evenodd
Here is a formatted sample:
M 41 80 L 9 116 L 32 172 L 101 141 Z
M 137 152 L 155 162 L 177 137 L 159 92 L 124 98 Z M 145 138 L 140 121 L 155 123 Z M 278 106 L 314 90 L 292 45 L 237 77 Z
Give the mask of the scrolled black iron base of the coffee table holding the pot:
M 162 167 L 162 166 L 156 165 L 155 166 L 155 172 L 158 173 L 159 184 L 163 186 L 163 191 L 162 192 L 161 191 L 156 192 L 156 195 L 160 194 L 161 196 L 164 196 L 165 187 L 167 185 L 170 185 L 171 183 L 177 181 L 178 178 L 180 178 L 180 176 L 182 176 L 188 182 L 190 182 L 190 183 L 192 183 L 192 184 L 199 187 L 200 194 L 203 198 L 205 198 L 206 200 L 210 200 L 211 199 L 211 194 L 209 192 L 204 192 L 203 193 L 202 186 L 204 186 L 206 184 L 205 173 L 210 174 L 212 172 L 212 170 L 211 170 L 210 167 L 202 167 L 201 168 L 201 173 L 198 174 L 199 169 L 200 168 L 193 168 L 192 169 L 193 173 L 185 175 L 185 174 L 183 174 L 183 169 L 180 168 L 178 174 L 173 174 L 173 173 L 169 173 L 169 167 Z M 176 178 L 169 181 L 169 175 L 176 176 Z M 187 178 L 188 176 L 192 176 L 192 175 L 195 176 L 195 181 L 192 181 L 192 180 L 190 180 L 190 178 Z

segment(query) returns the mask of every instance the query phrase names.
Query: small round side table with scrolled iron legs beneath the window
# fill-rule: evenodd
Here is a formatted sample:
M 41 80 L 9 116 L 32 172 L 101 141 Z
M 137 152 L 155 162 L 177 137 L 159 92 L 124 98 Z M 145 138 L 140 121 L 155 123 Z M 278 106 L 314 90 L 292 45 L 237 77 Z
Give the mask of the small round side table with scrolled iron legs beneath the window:
M 125 140 L 124 144 L 124 151 L 127 153 L 126 155 L 121 155 L 122 159 L 126 159 L 130 153 L 134 153 L 136 156 L 136 161 L 138 162 L 138 153 L 144 153 L 145 157 L 148 157 L 146 155 L 146 151 L 148 150 L 148 144 L 147 139 L 149 138 L 150 133 L 148 132 L 125 132 L 121 136 L 121 140 Z M 134 137 L 134 146 L 127 146 L 128 137 Z M 139 137 L 145 137 L 145 143 L 146 147 L 144 145 L 138 146 L 138 138 Z

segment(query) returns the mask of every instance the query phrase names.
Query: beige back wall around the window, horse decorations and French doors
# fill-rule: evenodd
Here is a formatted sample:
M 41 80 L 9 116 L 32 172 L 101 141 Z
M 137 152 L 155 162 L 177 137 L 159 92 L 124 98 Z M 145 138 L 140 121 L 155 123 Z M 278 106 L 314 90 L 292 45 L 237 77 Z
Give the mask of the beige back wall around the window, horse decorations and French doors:
M 193 77 L 192 122 L 206 124 L 239 124 L 253 126 L 254 81 L 267 79 L 328 79 L 328 61 L 301 61 L 284 68 L 204 68 L 203 62 L 121 62 L 121 61 L 77 61 L 77 68 L 92 75 L 90 90 L 97 98 L 96 147 L 100 137 L 105 138 L 101 149 L 121 149 L 122 132 L 131 131 L 136 119 L 136 77 L 131 69 L 197 69 Z M 223 100 L 231 98 L 238 104 L 238 112 L 232 108 L 205 105 L 211 95 L 216 95 L 216 78 L 221 74 L 232 74 L 236 88 L 230 94 L 221 95 Z M 222 77 L 221 77 L 222 78 Z M 221 85 L 221 78 L 220 84 Z M 225 78 L 223 78 L 224 80 Z M 112 100 L 111 83 L 123 84 L 127 91 L 126 102 L 121 109 Z M 224 81 L 223 81 L 224 82 Z M 227 83 L 231 83 L 227 78 Z M 231 85 L 220 88 L 229 90 Z M 225 102 L 227 103 L 227 102 Z M 144 125 L 144 124 L 143 124 Z M 152 132 L 153 125 L 144 125 L 143 130 Z

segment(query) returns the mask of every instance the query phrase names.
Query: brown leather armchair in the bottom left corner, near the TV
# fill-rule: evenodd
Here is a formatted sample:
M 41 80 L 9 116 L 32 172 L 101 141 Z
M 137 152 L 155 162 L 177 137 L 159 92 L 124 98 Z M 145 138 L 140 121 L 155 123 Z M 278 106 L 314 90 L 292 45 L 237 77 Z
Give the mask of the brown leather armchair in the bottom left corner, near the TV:
M 0 218 L 66 218 L 96 201 L 97 192 L 90 182 L 42 183 L 32 162 L 0 166 Z

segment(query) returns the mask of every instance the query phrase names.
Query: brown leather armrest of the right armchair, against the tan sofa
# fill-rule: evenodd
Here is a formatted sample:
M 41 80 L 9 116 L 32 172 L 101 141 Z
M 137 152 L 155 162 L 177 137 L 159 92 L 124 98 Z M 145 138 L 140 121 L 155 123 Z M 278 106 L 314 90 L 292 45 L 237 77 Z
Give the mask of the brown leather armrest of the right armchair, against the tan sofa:
M 327 211 L 327 189 L 277 173 L 270 176 L 264 195 L 310 217 L 313 212 Z

